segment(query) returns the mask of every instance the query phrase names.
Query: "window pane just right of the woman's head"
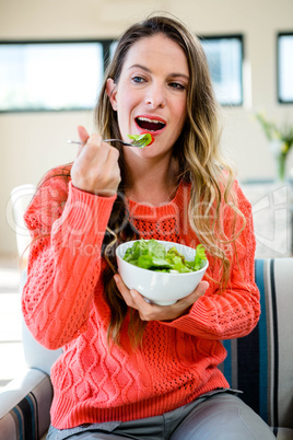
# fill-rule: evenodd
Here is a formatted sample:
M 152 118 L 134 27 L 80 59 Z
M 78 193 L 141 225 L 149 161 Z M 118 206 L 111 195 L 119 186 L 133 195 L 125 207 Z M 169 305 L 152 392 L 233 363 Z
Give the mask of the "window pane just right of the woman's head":
M 222 105 L 243 104 L 243 37 L 242 35 L 203 37 L 215 96 Z

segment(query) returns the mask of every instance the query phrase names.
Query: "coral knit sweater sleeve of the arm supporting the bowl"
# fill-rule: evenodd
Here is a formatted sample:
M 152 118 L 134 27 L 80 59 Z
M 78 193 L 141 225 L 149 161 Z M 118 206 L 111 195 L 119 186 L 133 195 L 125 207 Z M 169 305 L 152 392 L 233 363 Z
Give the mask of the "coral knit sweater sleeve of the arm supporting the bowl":
M 164 323 L 185 333 L 207 339 L 231 339 L 249 334 L 257 325 L 260 315 L 259 291 L 255 283 L 255 234 L 251 206 L 236 184 L 238 206 L 246 219 L 245 229 L 236 240 L 230 280 L 223 291 L 214 279 L 208 279 L 210 287 L 189 310 L 179 319 Z M 232 216 L 225 220 L 231 231 Z M 237 221 L 241 228 L 242 221 Z M 211 277 L 220 271 L 219 263 L 210 260 Z

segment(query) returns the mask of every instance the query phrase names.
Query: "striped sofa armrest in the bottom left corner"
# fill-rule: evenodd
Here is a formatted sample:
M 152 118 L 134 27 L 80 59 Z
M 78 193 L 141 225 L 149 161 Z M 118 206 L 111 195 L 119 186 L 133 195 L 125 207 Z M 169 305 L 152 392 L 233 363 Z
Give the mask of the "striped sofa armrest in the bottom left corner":
M 0 393 L 0 440 L 39 439 L 50 424 L 52 387 L 40 370 L 27 369 Z

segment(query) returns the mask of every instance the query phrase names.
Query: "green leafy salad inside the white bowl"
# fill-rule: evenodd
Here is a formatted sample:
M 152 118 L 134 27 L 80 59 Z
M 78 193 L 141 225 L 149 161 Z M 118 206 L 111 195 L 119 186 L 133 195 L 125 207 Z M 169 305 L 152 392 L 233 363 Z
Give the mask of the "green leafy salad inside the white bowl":
M 143 269 L 187 274 L 201 269 L 206 264 L 207 256 L 202 244 L 197 246 L 196 252 L 195 259 L 187 262 L 175 246 L 167 251 L 154 239 L 148 241 L 141 239 L 127 248 L 124 259 Z

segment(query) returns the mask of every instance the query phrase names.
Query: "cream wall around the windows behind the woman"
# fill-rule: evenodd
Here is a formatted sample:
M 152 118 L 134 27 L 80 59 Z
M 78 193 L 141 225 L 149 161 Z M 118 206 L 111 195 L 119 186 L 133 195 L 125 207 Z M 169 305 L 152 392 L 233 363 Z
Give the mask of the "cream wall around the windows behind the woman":
M 276 35 L 293 30 L 292 0 L 0 0 L 0 39 L 116 37 L 154 11 L 175 14 L 197 34 L 244 35 L 245 105 L 224 109 L 223 146 L 241 178 L 272 177 L 273 160 L 251 114 L 263 108 L 276 120 L 293 121 L 293 105 L 277 103 L 276 68 Z M 7 219 L 11 189 L 72 161 L 67 139 L 77 137 L 78 124 L 91 131 L 91 112 L 0 114 L 0 253 L 16 250 Z

